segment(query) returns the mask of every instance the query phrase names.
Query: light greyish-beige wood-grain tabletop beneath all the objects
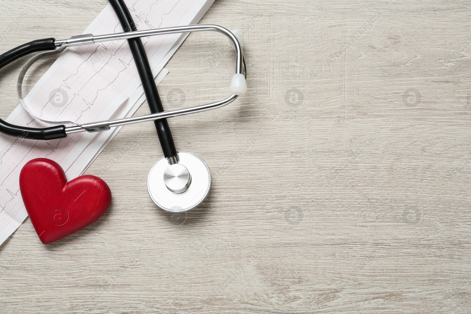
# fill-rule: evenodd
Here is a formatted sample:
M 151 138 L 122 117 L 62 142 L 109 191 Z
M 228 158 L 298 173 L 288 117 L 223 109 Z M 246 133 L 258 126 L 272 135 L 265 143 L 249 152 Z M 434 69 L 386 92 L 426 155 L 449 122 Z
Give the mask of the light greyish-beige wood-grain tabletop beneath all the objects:
M 0 33 L 24 16 L 6 51 L 79 34 L 107 2 L 0 4 Z M 86 172 L 112 190 L 102 218 L 50 245 L 26 219 L 0 247 L 0 313 L 470 313 L 470 5 L 216 0 L 202 23 L 245 30 L 249 92 L 170 120 L 211 169 L 206 201 L 157 209 L 153 124 L 123 128 Z M 162 98 L 218 100 L 232 60 L 191 35 Z

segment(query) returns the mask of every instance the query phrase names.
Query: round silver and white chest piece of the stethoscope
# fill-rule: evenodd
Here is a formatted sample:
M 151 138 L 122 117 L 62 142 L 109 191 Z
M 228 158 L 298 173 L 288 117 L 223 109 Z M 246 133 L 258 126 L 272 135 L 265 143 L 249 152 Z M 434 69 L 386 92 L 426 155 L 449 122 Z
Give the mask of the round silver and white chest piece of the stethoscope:
M 206 198 L 210 186 L 208 166 L 203 159 L 188 152 L 178 152 L 174 160 L 162 157 L 147 178 L 152 201 L 170 212 L 195 208 Z

